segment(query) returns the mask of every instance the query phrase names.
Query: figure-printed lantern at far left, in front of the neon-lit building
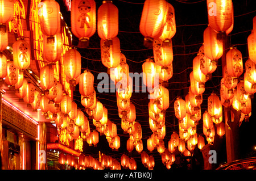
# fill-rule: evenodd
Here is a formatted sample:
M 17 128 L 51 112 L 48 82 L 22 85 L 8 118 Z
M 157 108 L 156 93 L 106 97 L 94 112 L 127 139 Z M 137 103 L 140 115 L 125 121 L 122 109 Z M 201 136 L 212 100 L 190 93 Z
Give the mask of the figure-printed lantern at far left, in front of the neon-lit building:
M 13 60 L 16 68 L 20 70 L 27 69 L 30 66 L 30 45 L 25 40 L 18 39 L 14 42 Z

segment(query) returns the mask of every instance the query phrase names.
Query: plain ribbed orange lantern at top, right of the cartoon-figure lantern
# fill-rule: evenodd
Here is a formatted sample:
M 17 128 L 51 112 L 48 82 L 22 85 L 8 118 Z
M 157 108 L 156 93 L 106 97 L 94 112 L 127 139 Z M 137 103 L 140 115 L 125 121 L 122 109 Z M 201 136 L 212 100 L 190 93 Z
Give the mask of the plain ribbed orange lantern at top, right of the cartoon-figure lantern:
M 112 1 L 103 1 L 98 8 L 97 30 L 101 39 L 108 40 L 118 34 L 118 9 Z

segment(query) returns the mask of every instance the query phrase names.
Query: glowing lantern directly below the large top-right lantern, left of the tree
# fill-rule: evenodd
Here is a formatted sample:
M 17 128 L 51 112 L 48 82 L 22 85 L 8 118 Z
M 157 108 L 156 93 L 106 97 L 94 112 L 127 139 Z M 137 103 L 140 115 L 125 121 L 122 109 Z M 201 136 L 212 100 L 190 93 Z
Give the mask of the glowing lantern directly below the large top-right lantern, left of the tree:
M 223 43 L 217 39 L 217 33 L 211 27 L 204 30 L 204 53 L 211 61 L 216 62 L 223 54 Z

